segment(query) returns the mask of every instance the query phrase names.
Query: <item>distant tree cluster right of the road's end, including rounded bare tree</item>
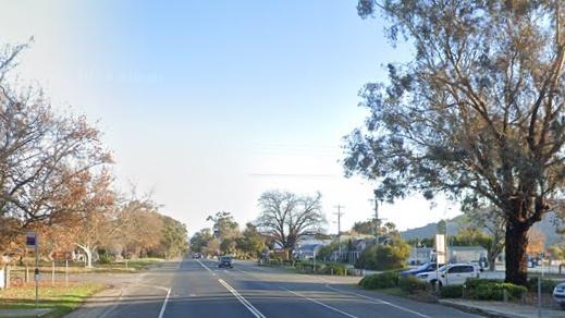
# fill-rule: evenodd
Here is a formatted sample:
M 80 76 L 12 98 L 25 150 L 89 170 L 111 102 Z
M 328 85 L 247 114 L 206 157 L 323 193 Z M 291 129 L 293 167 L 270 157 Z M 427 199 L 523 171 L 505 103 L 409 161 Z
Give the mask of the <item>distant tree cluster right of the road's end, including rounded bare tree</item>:
M 207 218 L 212 222 L 191 238 L 191 250 L 207 255 L 260 257 L 265 248 L 277 249 L 284 258 L 293 258 L 297 243 L 306 235 L 320 234 L 326 222 L 321 211 L 321 194 L 297 195 L 268 191 L 259 197 L 259 217 L 239 231 L 230 212 L 220 211 Z

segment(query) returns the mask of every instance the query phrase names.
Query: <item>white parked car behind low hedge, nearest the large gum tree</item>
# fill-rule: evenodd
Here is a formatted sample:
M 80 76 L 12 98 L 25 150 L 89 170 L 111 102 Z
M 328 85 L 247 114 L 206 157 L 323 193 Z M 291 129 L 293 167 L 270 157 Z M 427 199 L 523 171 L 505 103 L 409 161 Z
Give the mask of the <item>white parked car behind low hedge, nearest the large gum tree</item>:
M 439 277 L 438 277 L 439 274 Z M 435 271 L 418 273 L 416 277 L 440 286 L 460 285 L 469 278 L 479 278 L 480 267 L 476 264 L 447 264 Z

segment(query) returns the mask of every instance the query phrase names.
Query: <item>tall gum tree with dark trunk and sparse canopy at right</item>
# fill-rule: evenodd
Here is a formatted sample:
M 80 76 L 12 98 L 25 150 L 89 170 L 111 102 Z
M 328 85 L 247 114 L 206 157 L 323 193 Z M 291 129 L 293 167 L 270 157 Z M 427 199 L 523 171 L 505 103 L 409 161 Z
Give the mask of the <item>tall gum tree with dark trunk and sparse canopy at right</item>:
M 563 199 L 564 13 L 560 0 L 360 0 L 414 59 L 361 89 L 370 110 L 345 167 L 393 200 L 419 192 L 492 205 L 505 219 L 506 281 L 526 284 L 529 229 Z

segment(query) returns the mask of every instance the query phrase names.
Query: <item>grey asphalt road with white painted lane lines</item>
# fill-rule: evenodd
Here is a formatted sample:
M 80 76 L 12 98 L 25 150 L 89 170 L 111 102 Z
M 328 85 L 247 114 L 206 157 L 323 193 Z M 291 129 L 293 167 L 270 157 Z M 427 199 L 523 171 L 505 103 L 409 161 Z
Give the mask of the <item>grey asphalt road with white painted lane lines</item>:
M 358 278 L 294 274 L 253 262 L 167 264 L 102 299 L 81 317 L 476 317 L 437 304 L 364 291 Z M 78 317 L 78 316 L 77 316 Z

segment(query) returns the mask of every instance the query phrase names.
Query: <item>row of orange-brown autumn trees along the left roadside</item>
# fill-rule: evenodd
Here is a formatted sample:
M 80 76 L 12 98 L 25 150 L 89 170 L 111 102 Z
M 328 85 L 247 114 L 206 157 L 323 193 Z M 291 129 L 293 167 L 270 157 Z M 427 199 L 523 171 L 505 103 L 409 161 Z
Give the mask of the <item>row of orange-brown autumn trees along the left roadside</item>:
M 122 195 L 111 151 L 84 115 L 57 111 L 41 88 L 21 87 L 14 69 L 28 44 L 0 49 L 0 253 L 25 256 L 25 233 L 40 254 L 79 250 L 91 266 L 108 257 L 172 257 L 187 248 L 186 227 L 150 199 Z

